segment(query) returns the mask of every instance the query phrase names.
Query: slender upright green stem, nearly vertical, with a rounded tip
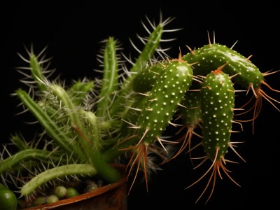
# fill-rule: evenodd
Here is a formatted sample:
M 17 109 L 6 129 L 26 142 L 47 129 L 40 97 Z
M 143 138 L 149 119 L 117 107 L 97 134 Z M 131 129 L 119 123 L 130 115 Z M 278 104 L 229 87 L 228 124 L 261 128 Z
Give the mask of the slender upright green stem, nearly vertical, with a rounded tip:
M 104 71 L 102 86 L 99 94 L 100 102 L 97 104 L 97 116 L 104 117 L 112 103 L 114 94 L 119 88 L 118 83 L 118 59 L 116 55 L 116 41 L 109 37 L 104 48 Z

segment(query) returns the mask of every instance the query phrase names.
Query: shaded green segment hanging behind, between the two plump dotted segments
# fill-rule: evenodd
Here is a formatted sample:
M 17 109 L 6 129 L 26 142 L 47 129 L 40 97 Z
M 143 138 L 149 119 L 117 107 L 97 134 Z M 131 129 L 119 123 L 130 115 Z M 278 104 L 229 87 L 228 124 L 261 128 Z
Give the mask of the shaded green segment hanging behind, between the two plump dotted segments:
M 196 127 L 202 120 L 201 111 L 201 92 L 186 92 L 180 106 L 179 112 L 183 120 L 183 125 L 187 127 Z

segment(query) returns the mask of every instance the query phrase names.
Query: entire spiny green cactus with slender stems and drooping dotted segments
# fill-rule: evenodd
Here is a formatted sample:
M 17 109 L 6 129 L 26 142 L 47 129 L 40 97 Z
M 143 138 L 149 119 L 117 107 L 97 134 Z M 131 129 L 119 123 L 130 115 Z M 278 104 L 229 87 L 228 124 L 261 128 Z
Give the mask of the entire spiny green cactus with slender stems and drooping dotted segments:
M 33 48 L 27 48 L 27 56 L 19 54 L 28 64 L 19 69 L 26 86 L 14 95 L 24 111 L 32 113 L 41 125 L 41 133 L 31 141 L 13 135 L 11 143 L 17 151 L 3 146 L 1 182 L 7 187 L 16 186 L 19 197 L 29 199 L 64 179 L 79 181 L 99 176 L 113 183 L 120 174 L 111 163 L 123 162 L 128 179 L 132 179 L 130 190 L 139 174 L 144 176 L 148 190 L 151 174 L 161 165 L 174 162 L 183 151 L 191 153 L 203 146 L 205 157 L 198 166 L 208 159 L 213 162 L 201 177 L 213 169 L 205 188 L 214 181 L 207 202 L 216 178 L 221 176 L 220 169 L 237 183 L 224 166 L 231 162 L 224 158 L 228 147 L 237 153 L 233 148 L 236 142 L 230 141 L 232 123 L 254 122 L 262 98 L 279 110 L 275 103 L 280 102 L 269 97 L 261 86 L 279 91 L 265 82 L 264 77 L 271 73 L 262 73 L 239 52 L 211 43 L 210 38 L 202 48 L 189 48 L 186 55 L 178 49 L 179 57 L 169 57 L 160 43 L 165 32 L 178 30 L 165 29 L 172 20 L 161 20 L 158 25 L 148 20 L 151 32 L 144 25 L 149 34 L 139 37 L 144 48 L 135 60 L 121 54 L 119 41 L 108 37 L 98 56 L 103 66 L 102 78 L 74 80 L 71 85 L 59 77 L 52 79 L 55 72 L 45 66 L 50 62 L 45 59 L 45 49 L 36 54 Z M 239 110 L 235 107 L 238 88 L 253 90 L 256 98 L 240 107 L 243 113 L 253 111 L 249 120 L 235 119 L 242 116 L 235 114 Z M 253 106 L 247 108 L 251 103 Z M 169 127 L 178 128 L 179 132 L 167 137 L 165 131 Z M 196 146 L 190 144 L 193 134 L 201 137 Z

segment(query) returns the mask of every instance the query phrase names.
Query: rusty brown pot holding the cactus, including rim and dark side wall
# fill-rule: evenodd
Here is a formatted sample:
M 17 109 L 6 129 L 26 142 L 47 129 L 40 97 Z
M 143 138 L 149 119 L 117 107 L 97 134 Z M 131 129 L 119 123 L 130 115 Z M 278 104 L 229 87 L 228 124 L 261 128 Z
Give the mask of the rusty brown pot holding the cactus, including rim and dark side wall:
M 125 166 L 116 165 L 123 176 L 120 181 L 102 186 L 97 190 L 83 193 L 76 197 L 59 200 L 52 204 L 44 204 L 25 210 L 126 210 L 127 209 L 127 177 Z M 23 210 L 23 209 L 22 209 Z

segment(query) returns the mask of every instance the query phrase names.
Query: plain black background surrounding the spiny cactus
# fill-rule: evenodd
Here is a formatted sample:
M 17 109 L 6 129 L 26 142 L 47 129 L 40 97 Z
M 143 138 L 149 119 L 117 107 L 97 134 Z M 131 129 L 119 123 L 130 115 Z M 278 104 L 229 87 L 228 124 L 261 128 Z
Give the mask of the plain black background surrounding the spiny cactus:
M 3 2 L 3 1 L 2 1 Z M 59 2 L 59 3 L 58 3 Z M 167 34 L 177 38 L 167 43 L 168 54 L 176 57 L 179 47 L 183 53 L 208 43 L 207 31 L 215 31 L 216 43 L 231 46 L 238 40 L 235 50 L 251 57 L 260 71 L 280 68 L 279 7 L 268 1 L 8 1 L 1 3 L 1 142 L 8 141 L 10 133 L 23 132 L 33 135 L 31 125 L 25 125 L 24 116 L 15 116 L 17 99 L 10 97 L 21 87 L 20 74 L 15 67 L 22 65 L 17 52 L 25 54 L 31 43 L 40 52 L 48 45 L 47 57 L 53 57 L 51 67 L 68 81 L 94 77 L 98 69 L 96 55 L 100 41 L 114 36 L 123 43 L 125 55 L 137 55 L 129 38 L 137 43 L 137 34 L 146 36 L 141 20 L 146 16 L 158 22 L 175 18 L 168 29 L 183 28 Z M 142 45 L 138 45 L 141 48 Z M 100 69 L 100 68 L 99 68 Z M 280 74 L 267 76 L 267 83 L 280 90 Z M 267 90 L 267 89 L 265 89 Z M 269 92 L 280 100 L 280 93 Z M 278 106 L 280 107 L 280 106 Z M 246 163 L 238 158 L 238 165 L 229 165 L 232 177 L 239 188 L 225 176 L 218 179 L 216 190 L 207 205 L 200 195 L 206 182 L 184 190 L 198 179 L 206 167 L 193 169 L 188 155 L 164 166 L 152 176 L 148 193 L 144 183 L 137 183 L 128 197 L 129 209 L 230 209 L 241 207 L 278 206 L 279 199 L 279 111 L 264 102 L 262 112 L 255 121 L 255 134 L 251 123 L 244 125 L 244 132 L 232 134 L 239 145 L 238 151 Z M 234 156 L 234 155 L 233 155 Z M 232 157 L 233 157 L 232 156 Z M 235 158 L 233 158 L 235 160 Z

